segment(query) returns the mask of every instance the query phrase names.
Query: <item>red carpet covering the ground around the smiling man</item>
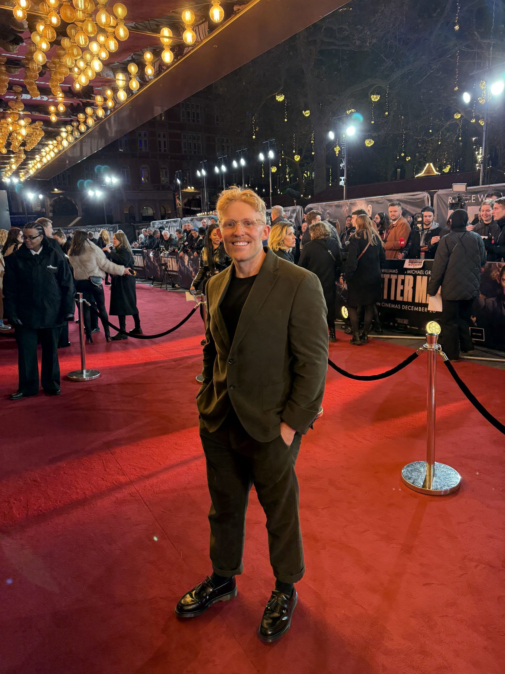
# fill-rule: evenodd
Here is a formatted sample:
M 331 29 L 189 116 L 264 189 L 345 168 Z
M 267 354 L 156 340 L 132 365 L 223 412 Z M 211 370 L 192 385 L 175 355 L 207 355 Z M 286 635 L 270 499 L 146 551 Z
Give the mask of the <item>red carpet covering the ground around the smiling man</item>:
M 146 334 L 191 309 L 138 286 Z M 133 326 L 128 326 L 129 328 Z M 62 380 L 59 398 L 9 402 L 16 350 L 0 335 L 0 671 L 5 674 L 502 674 L 504 438 L 439 367 L 437 458 L 457 495 L 402 486 L 426 456 L 426 357 L 372 384 L 329 371 L 325 415 L 298 460 L 306 576 L 290 632 L 262 644 L 273 588 L 253 495 L 238 596 L 178 621 L 209 573 L 205 465 L 195 394 L 198 315 L 156 341 L 88 347 L 100 379 Z M 77 327 L 60 351 L 79 367 Z M 331 347 L 354 373 L 409 350 Z M 502 371 L 457 369 L 503 421 Z M 500 665 L 501 663 L 501 665 Z

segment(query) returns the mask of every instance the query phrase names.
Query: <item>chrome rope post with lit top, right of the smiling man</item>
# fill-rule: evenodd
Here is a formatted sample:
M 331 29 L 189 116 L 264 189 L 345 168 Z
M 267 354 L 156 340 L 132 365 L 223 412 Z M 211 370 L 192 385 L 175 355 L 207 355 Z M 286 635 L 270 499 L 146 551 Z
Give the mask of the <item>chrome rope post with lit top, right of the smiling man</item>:
M 430 321 L 426 330 L 426 344 L 423 347 L 428 352 L 426 462 L 407 464 L 401 471 L 401 479 L 409 489 L 419 493 L 444 496 L 459 489 L 461 475 L 454 468 L 435 461 L 436 357 L 437 353 L 442 354 L 442 348 L 437 344 L 440 334 L 438 323 Z

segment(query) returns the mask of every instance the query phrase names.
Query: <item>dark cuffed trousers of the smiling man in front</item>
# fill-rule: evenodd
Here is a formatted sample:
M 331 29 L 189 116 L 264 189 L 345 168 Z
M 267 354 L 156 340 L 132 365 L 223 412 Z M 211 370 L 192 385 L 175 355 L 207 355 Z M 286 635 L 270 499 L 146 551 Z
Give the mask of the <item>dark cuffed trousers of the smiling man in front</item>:
M 242 573 L 246 510 L 255 485 L 267 516 L 273 575 L 281 582 L 296 583 L 305 572 L 295 472 L 302 436 L 296 433 L 290 447 L 280 435 L 271 442 L 258 442 L 230 410 L 215 433 L 209 433 L 200 421 L 200 437 L 212 501 L 209 522 L 214 572 L 220 576 Z

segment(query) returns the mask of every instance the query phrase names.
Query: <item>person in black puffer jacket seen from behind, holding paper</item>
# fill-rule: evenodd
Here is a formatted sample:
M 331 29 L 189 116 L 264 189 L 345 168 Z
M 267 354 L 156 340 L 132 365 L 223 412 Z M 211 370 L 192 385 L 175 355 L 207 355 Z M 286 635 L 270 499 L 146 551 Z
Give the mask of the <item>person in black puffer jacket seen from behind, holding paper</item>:
M 470 317 L 486 261 L 483 240 L 467 231 L 467 224 L 468 214 L 461 208 L 450 216 L 450 233 L 440 239 L 428 283 L 428 295 L 442 286 L 442 344 L 450 361 L 459 361 L 460 348 L 463 353 L 473 350 Z

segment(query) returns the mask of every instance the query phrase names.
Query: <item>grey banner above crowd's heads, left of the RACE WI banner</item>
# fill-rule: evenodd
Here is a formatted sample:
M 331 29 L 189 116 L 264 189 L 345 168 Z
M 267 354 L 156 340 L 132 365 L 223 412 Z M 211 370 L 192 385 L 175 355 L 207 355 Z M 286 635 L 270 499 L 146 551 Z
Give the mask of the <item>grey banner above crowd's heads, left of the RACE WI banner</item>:
M 345 202 L 321 202 L 320 204 L 308 204 L 305 208 L 320 210 L 323 220 L 338 220 L 341 227 L 345 227 L 345 218 L 354 210 L 363 208 L 370 218 L 377 213 L 387 213 L 391 202 L 399 201 L 408 214 L 419 213 L 424 206 L 430 206 L 430 195 L 427 192 L 410 192 L 405 194 L 389 194 L 382 197 L 366 197 L 364 199 L 351 199 Z

